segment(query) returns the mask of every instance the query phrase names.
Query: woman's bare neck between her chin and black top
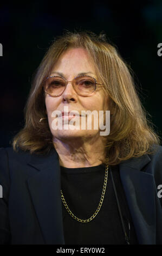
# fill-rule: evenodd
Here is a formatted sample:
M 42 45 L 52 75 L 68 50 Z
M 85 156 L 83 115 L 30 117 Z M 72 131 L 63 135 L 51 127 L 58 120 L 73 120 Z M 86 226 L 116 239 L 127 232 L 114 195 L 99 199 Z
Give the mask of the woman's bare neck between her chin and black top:
M 75 138 L 62 141 L 54 138 L 53 143 L 59 155 L 60 165 L 67 168 L 98 166 L 106 156 L 103 139 Z

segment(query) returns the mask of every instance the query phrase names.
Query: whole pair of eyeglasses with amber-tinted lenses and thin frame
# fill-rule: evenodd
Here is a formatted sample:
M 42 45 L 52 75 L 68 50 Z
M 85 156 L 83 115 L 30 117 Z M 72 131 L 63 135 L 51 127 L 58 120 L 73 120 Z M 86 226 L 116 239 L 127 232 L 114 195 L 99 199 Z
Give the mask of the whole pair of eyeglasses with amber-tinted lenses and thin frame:
M 72 83 L 75 92 L 81 96 L 93 93 L 96 89 L 96 84 L 102 84 L 97 83 L 94 77 L 85 75 L 77 76 L 72 81 L 67 81 L 60 76 L 49 76 L 43 84 L 43 89 L 50 96 L 57 97 L 64 92 L 69 82 Z

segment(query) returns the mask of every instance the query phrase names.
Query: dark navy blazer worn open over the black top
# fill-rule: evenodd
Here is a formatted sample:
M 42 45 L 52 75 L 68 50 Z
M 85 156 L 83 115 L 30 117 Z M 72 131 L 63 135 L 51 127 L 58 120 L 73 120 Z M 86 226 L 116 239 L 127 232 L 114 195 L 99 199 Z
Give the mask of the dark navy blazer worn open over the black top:
M 60 165 L 55 149 L 38 156 L 1 148 L 0 157 L 0 244 L 63 245 Z M 154 155 L 120 163 L 119 170 L 139 244 L 162 244 L 162 198 L 158 197 L 162 147 Z

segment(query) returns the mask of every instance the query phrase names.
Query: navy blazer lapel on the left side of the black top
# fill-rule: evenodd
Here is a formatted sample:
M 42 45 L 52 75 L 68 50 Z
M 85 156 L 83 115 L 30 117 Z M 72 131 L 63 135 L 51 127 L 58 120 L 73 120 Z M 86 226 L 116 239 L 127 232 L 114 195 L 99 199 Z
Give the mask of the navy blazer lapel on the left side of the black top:
M 38 172 L 28 186 L 46 244 L 64 244 L 60 165 L 55 149 L 48 156 L 31 155 L 28 163 Z

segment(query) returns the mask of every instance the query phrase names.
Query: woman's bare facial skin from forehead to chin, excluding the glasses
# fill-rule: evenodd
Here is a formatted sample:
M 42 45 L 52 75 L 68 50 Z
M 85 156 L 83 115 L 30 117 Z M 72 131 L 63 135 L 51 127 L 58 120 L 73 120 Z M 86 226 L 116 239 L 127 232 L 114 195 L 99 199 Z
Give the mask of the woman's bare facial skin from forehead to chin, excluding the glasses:
M 101 82 L 99 81 L 98 77 L 96 77 L 95 69 L 93 64 L 90 62 L 87 51 L 83 48 L 70 48 L 64 52 L 58 62 L 55 64 L 50 76 L 59 76 L 58 73 L 62 73 L 63 77 L 66 78 L 67 81 L 72 81 L 73 78 L 78 76 L 80 73 L 87 73 L 87 75 L 94 77 L 97 82 Z M 96 129 L 96 127 L 94 129 L 94 123 L 97 121 L 99 122 L 99 119 L 96 120 L 96 118 L 94 118 L 92 115 L 92 129 L 87 129 L 87 126 L 86 129 L 83 129 L 81 118 L 85 118 L 86 125 L 87 121 L 89 122 L 90 119 L 87 119 L 87 116 L 81 117 L 81 113 L 82 111 L 90 111 L 91 113 L 95 110 L 99 114 L 99 111 L 109 110 L 108 101 L 109 97 L 105 92 L 103 92 L 102 86 L 100 85 L 96 86 L 96 90 L 88 96 L 78 95 L 70 82 L 67 84 L 67 87 L 62 95 L 53 97 L 46 94 L 48 122 L 52 135 L 54 138 L 59 140 L 66 140 L 69 138 L 76 139 L 79 137 L 86 139 L 88 137 L 100 136 L 99 125 L 98 129 Z M 61 117 L 57 117 L 56 115 L 54 116 L 54 112 L 56 110 L 60 111 L 61 113 L 63 111 L 67 112 L 67 109 L 68 112 L 77 111 L 80 114 L 80 116 L 75 117 L 76 122 L 73 124 L 72 117 L 70 118 L 67 115 Z M 60 121 L 62 123 L 62 127 L 58 125 L 60 128 L 54 130 L 54 125 L 60 124 L 58 123 Z M 64 128 L 65 123 L 67 124 L 66 129 Z

